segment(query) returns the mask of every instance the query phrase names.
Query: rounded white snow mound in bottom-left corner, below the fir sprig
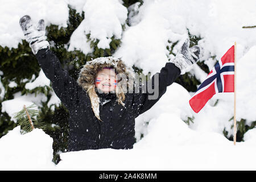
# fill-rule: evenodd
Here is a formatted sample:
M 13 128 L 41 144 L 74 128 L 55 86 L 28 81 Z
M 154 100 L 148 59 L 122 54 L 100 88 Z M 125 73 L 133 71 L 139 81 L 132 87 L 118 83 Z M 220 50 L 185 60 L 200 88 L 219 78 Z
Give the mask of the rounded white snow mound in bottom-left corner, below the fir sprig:
M 0 170 L 51 170 L 53 139 L 42 129 L 20 134 L 15 127 L 0 139 Z

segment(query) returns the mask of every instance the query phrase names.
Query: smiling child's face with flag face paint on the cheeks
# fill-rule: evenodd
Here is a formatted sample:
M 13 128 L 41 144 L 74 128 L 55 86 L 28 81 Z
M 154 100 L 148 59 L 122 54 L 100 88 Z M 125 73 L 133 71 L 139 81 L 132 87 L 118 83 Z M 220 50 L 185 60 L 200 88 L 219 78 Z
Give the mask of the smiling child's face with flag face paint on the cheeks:
M 96 75 L 95 86 L 104 93 L 113 92 L 117 86 L 114 69 L 103 68 Z

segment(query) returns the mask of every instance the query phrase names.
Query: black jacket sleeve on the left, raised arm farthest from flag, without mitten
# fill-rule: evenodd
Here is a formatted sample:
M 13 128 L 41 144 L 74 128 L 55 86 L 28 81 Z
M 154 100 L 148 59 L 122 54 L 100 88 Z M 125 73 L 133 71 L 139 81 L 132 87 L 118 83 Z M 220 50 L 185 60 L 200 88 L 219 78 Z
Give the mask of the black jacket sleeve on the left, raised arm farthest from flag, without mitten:
M 82 90 L 81 86 L 69 76 L 67 70 L 61 67 L 59 59 L 51 50 L 40 49 L 36 54 L 36 59 L 38 59 L 46 77 L 51 80 L 52 88 L 57 97 L 68 110 L 72 109 L 79 97 L 79 92 Z

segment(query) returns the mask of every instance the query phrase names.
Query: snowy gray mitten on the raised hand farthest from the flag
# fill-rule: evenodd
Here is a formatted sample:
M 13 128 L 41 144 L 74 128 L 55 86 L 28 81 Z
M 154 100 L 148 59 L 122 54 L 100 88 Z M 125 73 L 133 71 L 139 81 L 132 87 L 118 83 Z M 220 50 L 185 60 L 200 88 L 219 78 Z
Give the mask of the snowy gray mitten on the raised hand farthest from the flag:
M 24 15 L 20 18 L 19 24 L 34 55 L 36 55 L 40 49 L 49 48 L 49 42 L 46 40 L 46 27 L 44 26 L 43 19 L 40 19 L 38 26 L 35 27 L 32 24 L 30 16 Z

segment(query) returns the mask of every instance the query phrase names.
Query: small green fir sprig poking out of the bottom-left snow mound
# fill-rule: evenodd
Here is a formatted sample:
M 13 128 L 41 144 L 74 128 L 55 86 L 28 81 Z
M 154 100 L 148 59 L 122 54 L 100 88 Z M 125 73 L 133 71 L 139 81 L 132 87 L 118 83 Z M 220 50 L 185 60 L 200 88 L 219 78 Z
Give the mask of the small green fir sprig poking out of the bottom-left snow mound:
M 28 107 L 23 105 L 23 109 L 17 113 L 14 113 L 14 118 L 17 121 L 17 125 L 21 127 L 21 133 L 26 134 L 35 128 L 45 130 L 46 126 L 42 122 L 42 119 L 39 118 L 39 111 L 33 109 L 36 107 L 35 104 L 32 104 Z

